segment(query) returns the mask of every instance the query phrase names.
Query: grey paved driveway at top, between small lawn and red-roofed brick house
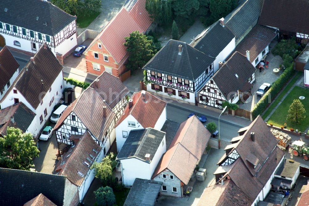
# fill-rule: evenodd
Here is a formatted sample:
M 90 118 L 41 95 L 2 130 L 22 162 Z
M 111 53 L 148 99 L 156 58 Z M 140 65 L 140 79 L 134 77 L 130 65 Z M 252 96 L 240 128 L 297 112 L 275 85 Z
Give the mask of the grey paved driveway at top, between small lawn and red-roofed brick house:
M 101 13 L 86 28 L 77 28 L 78 35 L 86 29 L 101 31 L 120 11 L 124 3 L 125 0 L 103 0 L 101 3 Z

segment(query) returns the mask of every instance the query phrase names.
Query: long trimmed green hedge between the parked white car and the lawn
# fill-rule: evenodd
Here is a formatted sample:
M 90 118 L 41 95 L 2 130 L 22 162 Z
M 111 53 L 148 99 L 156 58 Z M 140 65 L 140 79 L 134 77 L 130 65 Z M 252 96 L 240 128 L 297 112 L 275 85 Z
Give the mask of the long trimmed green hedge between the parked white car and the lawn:
M 277 94 L 281 91 L 284 85 L 291 79 L 295 70 L 294 64 L 291 64 L 290 67 L 286 68 L 286 70 L 279 76 L 279 78 L 273 83 L 270 89 L 265 93 L 265 95 L 256 103 L 252 110 L 252 118 L 255 119 L 259 114 L 262 114 L 267 106 L 271 103 L 268 102 L 269 99 L 273 101 L 273 99 L 277 96 Z

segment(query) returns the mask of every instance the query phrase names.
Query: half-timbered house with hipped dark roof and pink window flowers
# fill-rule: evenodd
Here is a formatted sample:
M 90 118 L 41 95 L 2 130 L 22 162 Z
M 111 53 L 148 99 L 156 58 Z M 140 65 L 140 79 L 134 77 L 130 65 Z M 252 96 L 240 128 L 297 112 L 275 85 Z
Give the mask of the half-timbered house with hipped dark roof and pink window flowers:
M 147 90 L 195 103 L 197 91 L 214 75 L 215 58 L 182 41 L 169 40 L 143 67 Z

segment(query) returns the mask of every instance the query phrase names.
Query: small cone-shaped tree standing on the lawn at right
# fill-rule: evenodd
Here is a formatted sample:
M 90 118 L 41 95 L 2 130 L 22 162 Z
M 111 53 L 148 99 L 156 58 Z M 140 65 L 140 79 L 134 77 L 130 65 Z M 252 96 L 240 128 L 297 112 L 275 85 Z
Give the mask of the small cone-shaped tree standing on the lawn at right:
M 300 124 L 300 122 L 306 118 L 304 113 L 306 113 L 304 105 L 299 99 L 294 99 L 288 110 L 286 120 L 289 120 L 294 124 Z

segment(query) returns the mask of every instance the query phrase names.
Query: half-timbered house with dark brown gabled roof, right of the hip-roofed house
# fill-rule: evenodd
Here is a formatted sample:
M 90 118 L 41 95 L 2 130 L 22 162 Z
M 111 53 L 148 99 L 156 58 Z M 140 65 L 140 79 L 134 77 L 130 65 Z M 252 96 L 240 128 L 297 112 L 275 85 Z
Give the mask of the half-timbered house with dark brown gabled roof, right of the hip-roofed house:
M 224 101 L 246 100 L 255 82 L 255 71 L 251 62 L 236 51 L 199 91 L 199 103 L 222 109 Z

